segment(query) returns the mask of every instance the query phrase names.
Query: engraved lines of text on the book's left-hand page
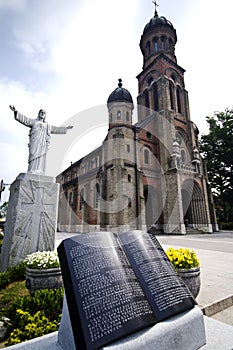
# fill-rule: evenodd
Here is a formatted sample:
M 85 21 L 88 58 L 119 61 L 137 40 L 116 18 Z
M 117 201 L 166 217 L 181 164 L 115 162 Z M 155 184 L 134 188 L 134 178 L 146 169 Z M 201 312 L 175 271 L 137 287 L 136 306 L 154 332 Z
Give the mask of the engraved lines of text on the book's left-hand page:
M 77 293 L 92 342 L 153 311 L 123 250 L 78 244 L 70 250 Z

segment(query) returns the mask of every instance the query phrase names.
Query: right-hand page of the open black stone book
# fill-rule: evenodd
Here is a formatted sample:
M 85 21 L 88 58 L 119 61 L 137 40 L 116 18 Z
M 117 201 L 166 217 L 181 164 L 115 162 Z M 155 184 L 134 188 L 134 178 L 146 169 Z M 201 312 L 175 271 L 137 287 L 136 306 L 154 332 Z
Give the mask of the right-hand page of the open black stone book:
M 157 321 L 195 305 L 155 236 L 131 231 L 119 234 L 119 238 Z

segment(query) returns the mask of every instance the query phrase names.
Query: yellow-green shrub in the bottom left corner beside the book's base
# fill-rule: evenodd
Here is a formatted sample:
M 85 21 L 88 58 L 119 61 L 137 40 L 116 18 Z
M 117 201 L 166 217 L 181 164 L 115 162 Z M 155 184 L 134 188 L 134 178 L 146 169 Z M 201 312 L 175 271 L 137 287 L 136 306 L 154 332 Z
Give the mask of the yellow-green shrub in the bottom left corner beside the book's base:
M 16 310 L 18 328 L 15 328 L 5 343 L 6 346 L 14 345 L 54 332 L 58 329 L 59 320 L 49 321 L 43 311 L 38 311 L 35 315 L 20 309 Z

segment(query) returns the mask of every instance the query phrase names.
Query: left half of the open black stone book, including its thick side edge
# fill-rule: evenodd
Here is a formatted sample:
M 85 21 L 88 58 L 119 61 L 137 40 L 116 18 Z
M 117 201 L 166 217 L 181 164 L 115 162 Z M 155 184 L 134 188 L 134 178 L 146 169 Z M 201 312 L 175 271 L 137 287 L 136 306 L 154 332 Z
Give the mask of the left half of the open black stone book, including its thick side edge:
M 93 350 L 154 323 L 153 311 L 114 235 L 78 236 L 58 248 L 74 338 L 81 327 L 86 349 Z M 75 343 L 80 346 L 81 341 L 85 349 L 80 337 L 79 329 Z

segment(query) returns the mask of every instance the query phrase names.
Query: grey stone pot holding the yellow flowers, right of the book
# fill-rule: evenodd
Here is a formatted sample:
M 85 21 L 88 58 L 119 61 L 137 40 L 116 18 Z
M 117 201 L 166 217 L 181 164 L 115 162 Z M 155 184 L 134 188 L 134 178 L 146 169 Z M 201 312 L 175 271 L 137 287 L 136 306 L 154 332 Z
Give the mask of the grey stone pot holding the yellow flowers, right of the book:
M 194 298 L 196 298 L 201 288 L 200 266 L 191 269 L 177 269 L 177 272 Z

